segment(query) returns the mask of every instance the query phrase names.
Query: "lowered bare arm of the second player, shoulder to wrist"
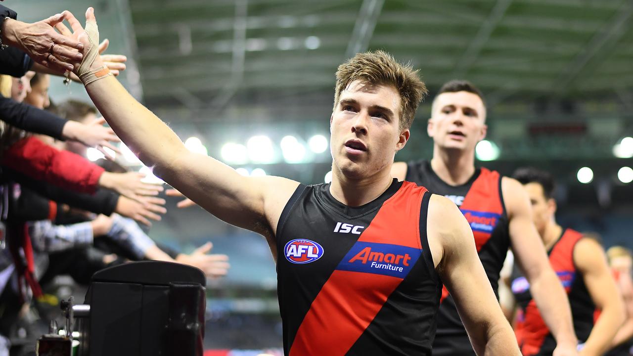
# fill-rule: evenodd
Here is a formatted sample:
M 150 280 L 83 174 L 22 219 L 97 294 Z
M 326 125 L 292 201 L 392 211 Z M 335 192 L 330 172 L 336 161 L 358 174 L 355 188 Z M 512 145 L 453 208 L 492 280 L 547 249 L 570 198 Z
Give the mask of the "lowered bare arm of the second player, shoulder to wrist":
M 567 294 L 549 265 L 548 255 L 532 222 L 529 197 L 518 181 L 508 177 L 503 177 L 501 189 L 510 219 L 512 251 L 530 283 L 530 292 L 545 323 L 556 338 L 554 355 L 575 355 L 577 340 Z

